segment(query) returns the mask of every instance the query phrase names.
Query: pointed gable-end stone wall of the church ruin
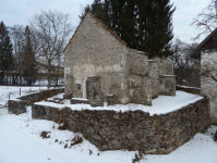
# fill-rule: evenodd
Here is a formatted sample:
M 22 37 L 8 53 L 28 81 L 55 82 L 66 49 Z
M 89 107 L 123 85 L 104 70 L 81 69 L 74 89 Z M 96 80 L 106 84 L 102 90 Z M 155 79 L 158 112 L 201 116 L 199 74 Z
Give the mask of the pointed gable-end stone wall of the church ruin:
M 100 76 L 101 91 L 118 95 L 120 103 L 128 103 L 125 58 L 129 48 L 116 39 L 92 15 L 87 14 L 70 41 L 65 53 L 65 93 L 85 97 L 86 79 Z

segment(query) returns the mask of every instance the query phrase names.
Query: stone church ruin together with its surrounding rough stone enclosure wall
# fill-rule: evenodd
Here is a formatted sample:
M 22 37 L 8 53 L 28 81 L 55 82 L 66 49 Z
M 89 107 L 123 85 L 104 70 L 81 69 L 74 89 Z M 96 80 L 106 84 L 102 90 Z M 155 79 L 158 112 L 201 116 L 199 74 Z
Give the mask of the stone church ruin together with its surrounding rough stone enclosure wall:
M 169 110 L 166 106 L 165 112 L 152 111 L 155 103 L 147 105 L 154 98 L 176 96 L 173 63 L 159 58 L 148 60 L 145 52 L 130 49 L 89 13 L 64 54 L 65 99 L 55 100 L 53 97 L 44 101 L 62 92 L 62 88 L 31 93 L 9 100 L 9 113 L 25 113 L 25 105 L 33 104 L 33 118 L 52 121 L 64 129 L 81 133 L 100 151 L 137 150 L 145 154 L 168 154 L 209 125 L 208 100 L 202 97 L 185 104 L 178 102 Z M 166 98 L 177 97 L 179 92 Z M 131 109 L 128 104 L 123 110 L 118 104 L 93 108 L 104 102 L 108 105 L 138 103 L 149 110 L 137 109 L 138 104 Z M 160 109 L 161 103 L 162 100 Z

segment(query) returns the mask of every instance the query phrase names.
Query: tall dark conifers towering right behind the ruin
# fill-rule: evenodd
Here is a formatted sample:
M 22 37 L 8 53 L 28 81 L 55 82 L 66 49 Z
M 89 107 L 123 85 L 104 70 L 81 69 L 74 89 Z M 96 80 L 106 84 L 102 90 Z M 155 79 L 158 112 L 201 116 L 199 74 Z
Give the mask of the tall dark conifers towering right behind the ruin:
M 94 0 L 83 9 L 94 14 L 129 47 L 145 51 L 149 58 L 168 57 L 171 51 L 172 14 L 170 0 Z

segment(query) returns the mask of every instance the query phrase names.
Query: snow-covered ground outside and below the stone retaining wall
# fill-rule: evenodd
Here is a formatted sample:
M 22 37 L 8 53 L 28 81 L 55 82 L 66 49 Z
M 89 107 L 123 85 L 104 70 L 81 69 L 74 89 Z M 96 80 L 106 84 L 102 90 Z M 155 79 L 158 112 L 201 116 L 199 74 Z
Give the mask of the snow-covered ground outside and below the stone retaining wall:
M 19 90 L 20 87 L 0 87 L 0 102 L 4 104 L 9 93 L 15 98 Z M 32 90 L 39 90 L 39 87 L 33 87 Z M 27 92 L 29 87 L 22 87 L 22 95 Z M 69 147 L 71 140 L 79 134 L 59 130 L 58 126 L 53 122 L 32 120 L 31 106 L 27 108 L 27 113 L 21 115 L 8 114 L 7 108 L 0 109 L 0 163 L 132 163 L 137 153 L 137 151 L 100 152 L 87 140 L 72 148 L 64 148 L 67 143 Z M 210 126 L 207 133 L 196 134 L 192 140 L 170 154 L 144 155 L 140 162 L 217 163 L 217 142 L 213 140 L 216 129 L 217 126 Z M 50 138 L 43 139 L 40 137 L 43 130 L 50 131 Z

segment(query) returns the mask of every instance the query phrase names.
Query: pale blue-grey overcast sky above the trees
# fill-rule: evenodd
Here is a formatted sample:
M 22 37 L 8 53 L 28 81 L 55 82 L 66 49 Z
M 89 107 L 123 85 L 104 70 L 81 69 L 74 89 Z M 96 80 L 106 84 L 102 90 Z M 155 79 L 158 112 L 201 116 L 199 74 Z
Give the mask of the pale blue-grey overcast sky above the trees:
M 27 25 L 28 18 L 40 10 L 57 9 L 71 15 L 73 26 L 80 23 L 81 4 L 89 4 L 94 0 L 0 0 L 0 21 L 7 26 Z M 173 34 L 181 40 L 192 42 L 197 32 L 190 26 L 192 18 L 207 7 L 212 0 L 171 0 L 177 10 L 173 14 Z M 204 37 L 203 37 L 204 38 Z M 201 40 L 203 40 L 203 38 Z M 198 40 L 198 42 L 201 41 Z

